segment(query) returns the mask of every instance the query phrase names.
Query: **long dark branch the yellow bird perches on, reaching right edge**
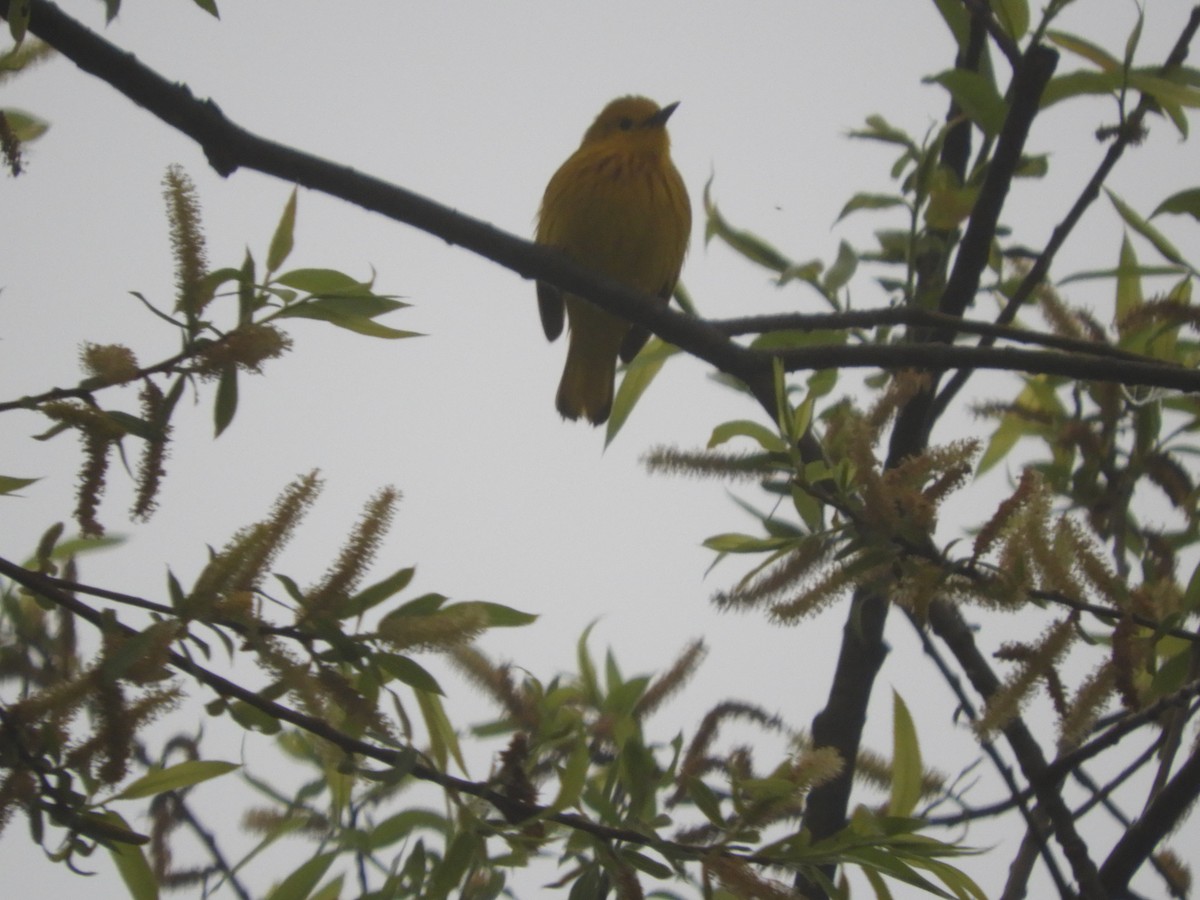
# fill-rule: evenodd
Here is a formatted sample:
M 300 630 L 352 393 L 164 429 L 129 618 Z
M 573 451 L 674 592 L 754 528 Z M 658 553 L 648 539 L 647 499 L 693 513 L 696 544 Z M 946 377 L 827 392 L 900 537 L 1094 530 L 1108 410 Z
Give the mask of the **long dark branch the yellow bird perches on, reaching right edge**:
M 0 0 L 0 16 L 7 17 L 8 2 L 10 0 Z M 162 78 L 132 54 L 118 49 L 47 0 L 30 0 L 30 31 L 85 72 L 107 82 L 167 125 L 191 137 L 204 149 L 209 162 L 222 175 L 247 168 L 293 181 L 410 224 L 442 238 L 448 244 L 462 246 L 491 259 L 526 278 L 548 281 L 564 290 L 584 296 L 608 312 L 644 325 L 664 341 L 682 347 L 721 372 L 742 380 L 773 415 L 775 400 L 770 360 L 774 354 L 742 347 L 730 341 L 727 332 L 719 325 L 679 313 L 661 304 L 649 302 L 646 295 L 592 272 L 550 247 L 535 245 L 380 179 L 260 138 L 227 119 L 212 101 L 197 100 L 186 85 L 173 84 Z M 997 146 L 997 155 L 1000 151 Z M 1019 157 L 1019 148 L 1015 152 Z M 984 193 L 980 194 L 980 203 L 985 209 L 988 191 L 985 185 Z M 996 197 L 992 203 L 1002 199 Z M 980 241 L 982 239 L 976 242 Z M 973 294 L 973 290 L 968 290 L 967 275 L 977 263 L 978 259 L 971 257 L 970 265 L 960 262 L 955 266 L 955 272 L 961 274 L 952 275 L 952 284 L 946 292 L 948 298 Z M 978 271 L 974 277 L 977 283 Z M 941 325 L 943 329 L 948 328 L 944 323 Z M 1051 341 L 1045 340 L 1043 343 L 1050 344 Z M 1094 361 L 1076 361 L 1067 354 L 1026 356 L 1016 350 L 990 350 L 973 356 L 971 354 L 976 348 L 949 349 L 949 354 L 932 362 L 928 360 L 924 350 L 911 347 L 810 348 L 793 352 L 791 355 L 785 354 L 785 360 L 791 371 L 829 366 L 922 368 L 928 365 L 949 368 L 973 365 L 982 368 L 1062 374 L 1084 380 L 1096 380 L 1108 374 L 1110 379 L 1120 378 L 1128 384 L 1200 391 L 1200 373 L 1176 371 L 1150 360 L 1139 362 L 1136 359 L 1129 359 L 1121 370 L 1112 370 Z M 167 362 L 158 364 L 155 370 L 164 365 Z M 1046 368 L 1043 370 L 1043 366 Z M 78 396 L 77 390 L 61 389 L 54 396 Z M 22 398 L 7 406 L 28 406 L 30 400 Z

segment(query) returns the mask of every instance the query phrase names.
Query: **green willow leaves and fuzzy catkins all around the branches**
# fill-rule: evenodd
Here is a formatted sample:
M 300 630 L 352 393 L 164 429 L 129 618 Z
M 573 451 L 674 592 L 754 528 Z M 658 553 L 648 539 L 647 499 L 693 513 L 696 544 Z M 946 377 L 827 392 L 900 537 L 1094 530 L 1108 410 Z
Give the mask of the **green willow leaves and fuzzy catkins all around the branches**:
M 215 5 L 197 2 L 216 14 Z M 842 896 L 847 869 L 862 872 L 877 896 L 890 896 L 889 886 L 899 883 L 982 898 L 984 889 L 954 864 L 972 852 L 959 829 L 1012 814 L 1022 816 L 1027 840 L 1009 894 L 1024 893 L 1034 856 L 1063 896 L 1075 895 L 1075 884 L 1082 896 L 1121 895 L 1147 860 L 1166 890 L 1184 894 L 1187 868 L 1159 844 L 1200 796 L 1193 736 L 1200 523 L 1189 464 L 1200 427 L 1200 316 L 1192 304 L 1196 266 L 1172 238 L 1175 220 L 1165 217 L 1200 218 L 1200 188 L 1127 200 L 1105 181 L 1124 151 L 1146 139 L 1150 116 L 1188 136 L 1200 73 L 1183 59 L 1200 11 L 1169 59 L 1144 65 L 1135 62 L 1140 19 L 1122 53 L 1112 54 L 1051 26 L 1066 0 L 1051 1 L 1037 20 L 1021 0 L 936 5 L 956 60 L 929 79 L 947 94 L 944 124 L 914 137 L 872 115 L 851 133 L 893 154 L 894 188 L 852 194 L 840 216 L 884 217 L 872 246 L 842 241 L 828 264 L 794 260 L 728 221 L 712 182 L 706 188 L 708 239 L 769 272 L 781 289 L 815 292 L 828 312 L 708 322 L 680 293 L 686 314 L 650 311 L 637 322 L 661 340 L 626 370 L 607 436 L 616 437 L 658 372 L 684 353 L 713 364 L 744 392 L 746 416 L 715 425 L 707 446 L 659 448 L 647 463 L 762 492 L 738 500 L 757 533 L 707 541 L 716 560 L 751 560 L 732 587 L 716 592 L 719 607 L 760 610 L 773 624 L 847 607 L 845 665 L 811 728 L 754 702 L 721 698 L 690 734 L 656 736 L 654 714 L 701 665 L 702 642 L 685 646 L 656 676 L 626 676 L 613 653 L 599 662 L 587 634 L 574 673 L 546 679 L 490 660 L 475 638 L 529 626 L 535 617 L 438 593 L 397 600 L 415 578 L 413 566 L 364 587 L 400 498 L 390 487 L 365 504 L 310 587 L 272 565 L 319 493 L 317 473 L 295 479 L 259 522 L 210 550 L 190 587 L 168 571 L 166 602 L 79 583 L 77 559 L 114 542 L 100 518 L 110 461 L 137 448 L 131 515 L 150 517 L 186 391 L 202 396 L 211 385 L 220 436 L 234 424 L 244 377 L 290 349 L 288 319 L 413 336 L 378 322 L 404 304 L 376 293 L 372 281 L 326 268 L 284 270 L 295 191 L 262 264 L 247 252 L 238 265 L 210 265 L 197 192 L 173 167 L 164 198 L 176 294 L 170 304 L 134 296 L 179 336 L 178 353 L 144 365 L 128 347 L 88 344 L 78 385 L 0 403 L 0 412 L 42 416 L 40 439 L 72 431 L 83 446 L 80 536 L 66 538 L 56 524 L 25 564 L 0 559 L 0 827 L 22 814 L 34 840 L 72 866 L 103 847 L 138 898 L 160 888 L 210 890 L 214 882 L 246 896 L 242 868 L 286 836 L 302 836 L 313 852 L 278 881 L 270 893 L 277 900 L 349 890 L 494 898 L 509 890 L 511 870 L 541 859 L 557 859 L 556 887 L 572 900 L 641 898 L 648 883 L 660 896 Z M 44 5 L 32 6 L 43 14 Z M 118 7 L 109 2 L 110 17 Z M 18 41 L 31 28 L 55 44 L 49 13 L 30 17 L 30 5 L 12 2 L 0 12 Z M 1007 84 L 994 54 L 1013 72 Z M 1057 72 L 1060 54 L 1080 67 Z M 0 62 L 16 70 L 35 55 L 17 49 Z M 1117 124 L 1098 130 L 1108 154 L 1046 245 L 1028 251 L 1001 226 L 1001 214 L 1015 179 L 1051 176 L 1051 155 L 1026 148 L 1030 124 L 1054 104 L 1096 95 L 1110 97 L 1116 110 Z M 0 114 L 14 175 L 22 143 L 40 128 L 31 116 Z M 221 158 L 210 144 L 205 150 Z M 304 182 L 307 172 L 298 169 L 295 180 Z M 1108 205 L 1099 209 L 1111 209 L 1123 228 L 1116 260 L 1051 280 L 1058 247 L 1102 190 Z M 428 214 L 426 202 L 420 214 L 396 217 Z M 494 230 L 458 238 L 493 258 L 509 252 L 502 239 L 515 240 Z M 1146 253 L 1153 264 L 1141 262 Z M 560 260 L 529 256 L 521 270 L 551 282 L 576 277 L 572 293 L 618 302 L 602 286 L 594 298 L 577 290 L 587 274 Z M 887 308 L 851 308 L 852 287 L 866 278 L 886 292 Z M 1072 305 L 1069 292 L 1080 283 L 1111 286 L 1111 325 Z M 986 320 L 967 316 L 992 304 Z M 734 340 L 742 336 L 750 340 Z M 854 367 L 869 374 L 847 391 Z M 974 403 L 985 438 L 934 443 L 935 425 L 965 404 L 960 394 L 980 367 L 1021 372 L 1015 396 Z M 137 412 L 110 400 L 133 385 Z M 835 396 L 839 388 L 847 396 Z M 1001 463 L 1019 469 L 1007 497 L 976 510 L 972 530 L 947 540 L 943 510 Z M 6 475 L 0 493 L 29 482 Z M 1168 524 L 1146 515 L 1162 498 L 1171 509 Z M 890 758 L 860 746 L 892 608 L 911 622 L 956 692 L 956 715 L 970 721 L 996 768 L 1006 803 L 977 805 L 966 772 L 923 766 L 899 695 Z M 997 612 L 1019 613 L 1030 628 L 998 649 L 994 667 L 967 617 Z M 449 658 L 494 703 L 497 719 L 470 732 L 457 727 L 443 686 L 416 659 L 422 653 Z M 1086 674 L 1068 671 L 1068 656 L 1084 660 Z M 256 678 L 217 673 L 222 660 L 252 662 Z M 188 802 L 198 785 L 234 776 L 236 767 L 203 758 L 191 733 L 167 739 L 157 754 L 148 749 L 148 726 L 194 700 L 199 686 L 217 694 L 210 716 L 274 740 L 308 773 L 295 790 L 256 772 L 236 775 L 260 798 L 246 816 L 258 844 L 238 862 Z M 1057 714 L 1052 733 L 1025 713 L 1038 694 Z M 722 739 L 722 731 L 736 739 Z M 1082 764 L 1134 732 L 1150 750 L 1126 760 L 1109 782 L 1091 781 Z M 751 749 L 748 734 L 767 751 Z M 468 737 L 504 740 L 486 781 L 451 774 L 466 773 Z M 1019 775 L 998 749 L 1002 740 Z M 1046 760 L 1042 746 L 1050 743 L 1055 756 Z M 1146 772 L 1151 786 L 1142 811 L 1129 817 L 1110 794 L 1136 772 Z M 1080 808 L 1064 800 L 1068 778 L 1088 792 Z M 149 834 L 118 811 L 138 800 L 149 800 Z M 942 806 L 956 811 L 935 815 Z M 1081 838 L 1097 810 L 1126 826 L 1111 847 Z M 205 844 L 203 864 L 174 862 L 173 835 L 184 828 Z

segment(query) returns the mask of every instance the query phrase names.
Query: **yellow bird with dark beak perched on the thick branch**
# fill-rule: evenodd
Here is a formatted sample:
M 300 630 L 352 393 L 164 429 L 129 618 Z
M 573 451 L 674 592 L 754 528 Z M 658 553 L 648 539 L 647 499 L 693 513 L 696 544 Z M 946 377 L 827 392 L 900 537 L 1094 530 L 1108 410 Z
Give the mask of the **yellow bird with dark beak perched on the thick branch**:
M 678 103 L 661 109 L 646 97 L 620 97 L 604 108 L 546 186 L 538 242 L 558 247 L 581 265 L 671 300 L 691 233 L 691 204 L 671 162 L 666 124 Z M 629 362 L 648 332 L 582 298 L 538 282 L 546 337 L 570 320 L 558 412 L 600 425 L 612 409 L 617 355 Z

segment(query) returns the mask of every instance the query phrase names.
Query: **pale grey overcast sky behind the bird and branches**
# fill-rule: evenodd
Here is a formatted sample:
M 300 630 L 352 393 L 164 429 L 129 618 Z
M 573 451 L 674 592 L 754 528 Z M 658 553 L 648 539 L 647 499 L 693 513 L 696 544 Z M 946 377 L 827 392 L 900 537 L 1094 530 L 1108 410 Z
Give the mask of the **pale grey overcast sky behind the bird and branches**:
M 719 245 L 704 247 L 706 180 L 713 179 L 727 218 L 797 260 L 832 262 L 840 240 L 869 246 L 874 229 L 899 218 L 859 214 L 836 227 L 834 220 L 856 191 L 893 188 L 894 154 L 848 140 L 846 132 L 881 113 L 924 136 L 941 121 L 947 98 L 920 78 L 953 62 L 934 5 L 918 0 L 618 0 L 587 7 L 224 0 L 220 22 L 186 0 L 126 0 L 107 28 L 98 2 L 60 5 L 164 77 L 215 100 L 233 121 L 516 234 L 532 233 L 547 179 L 608 100 L 630 92 L 678 100 L 673 155 L 696 211 L 683 281 L 700 310 L 719 317 L 817 311 L 821 304 L 797 283 L 775 289 L 764 271 Z M 1150 4 L 1141 61 L 1163 59 L 1184 6 Z M 1134 18 L 1133 2 L 1088 0 L 1060 26 L 1120 54 Z M 1060 72 L 1082 66 L 1067 56 Z M 29 149 L 28 174 L 0 186 L 0 398 L 78 380 L 83 341 L 127 343 L 143 364 L 178 349 L 173 330 L 130 295 L 140 292 L 162 307 L 173 302 L 160 186 L 167 166 L 180 163 L 198 186 L 214 266 L 239 265 L 247 246 L 265 257 L 289 185 L 254 173 L 221 179 L 188 139 L 65 60 L 5 85 L 0 104 L 52 124 Z M 1075 113 L 1056 108 L 1038 121 L 1028 149 L 1051 151 L 1051 178 L 1019 182 L 1004 216 L 1022 242 L 1037 247 L 1049 235 L 1104 152 L 1092 133 L 1112 121 L 1112 104 L 1099 100 Z M 1175 173 L 1195 162 L 1194 148 L 1169 125 L 1151 127 L 1147 146 L 1110 182 L 1144 212 L 1190 186 Z M 1117 217 L 1104 206 L 1093 218 L 1067 247 L 1057 277 L 1115 264 Z M 1170 224 L 1194 258 L 1194 228 Z M 150 524 L 125 520 L 128 491 L 113 473 L 101 517 L 130 544 L 89 558 L 85 581 L 162 598 L 167 566 L 190 583 L 206 544 L 222 545 L 259 518 L 290 479 L 319 467 L 325 493 L 276 566 L 301 584 L 320 576 L 367 497 L 394 484 L 404 500 L 380 575 L 416 564 L 418 593 L 493 600 L 541 616 L 532 628 L 490 636 L 484 646 L 496 656 L 548 679 L 574 665 L 576 637 L 598 620 L 595 652 L 613 647 L 629 674 L 666 665 L 704 636 L 708 662 L 664 713 L 658 737 L 670 739 L 725 697 L 755 700 L 796 725 L 811 721 L 824 701 L 845 607 L 793 629 L 716 616 L 709 595 L 740 576 L 744 563 L 727 560 L 706 575 L 712 554 L 700 542 L 752 530 L 754 521 L 724 486 L 650 478 L 638 462 L 655 445 L 702 445 L 720 421 L 758 418 L 755 407 L 708 382 L 700 364 L 676 359 L 604 451 L 602 431 L 563 422 L 554 410 L 565 346 L 546 343 L 533 287 L 521 277 L 304 191 L 289 265 L 362 278 L 374 271 L 380 290 L 413 304 L 386 324 L 427 336 L 385 342 L 296 322 L 293 353 L 270 364 L 265 377 L 241 380 L 238 418 L 220 439 L 211 439 L 211 389 L 181 410 L 161 510 Z M 1103 310 L 1110 294 L 1110 286 L 1093 286 L 1069 299 Z M 870 278 L 856 281 L 856 306 L 887 300 Z M 983 389 L 1009 390 L 1000 379 Z M 136 397 L 109 391 L 103 402 L 132 408 Z M 0 553 L 7 558 L 25 558 L 30 534 L 72 508 L 77 444 L 70 437 L 29 439 L 42 428 L 32 415 L 8 414 L 0 433 L 0 472 L 44 476 L 24 499 L 2 500 Z M 958 419 L 935 439 L 979 431 L 978 422 Z M 1003 476 L 997 473 L 997 484 Z M 749 488 L 740 496 L 767 502 Z M 978 516 L 996 493 L 985 497 L 956 509 Z M 959 533 L 955 524 L 943 521 L 947 539 Z M 894 653 L 877 686 L 869 742 L 890 745 L 895 688 L 914 706 L 929 762 L 956 772 L 977 751 L 952 730 L 947 690 L 900 617 L 889 640 Z M 456 722 L 484 718 L 476 698 L 448 683 L 455 688 L 451 709 L 461 710 Z M 265 742 L 251 744 L 245 754 L 252 763 L 271 758 Z M 242 748 L 234 744 L 232 752 Z M 486 755 L 480 760 L 475 778 L 486 774 Z M 229 778 L 211 790 L 236 797 L 241 788 Z M 996 794 L 980 791 L 973 799 Z M 1190 835 L 1195 846 L 1194 826 Z M 991 844 L 1002 835 L 972 833 L 971 840 Z M 1188 839 L 1175 844 L 1186 847 Z M 966 864 L 989 893 L 1002 883 L 1009 847 L 990 864 Z M 120 896 L 119 886 L 97 887 L 113 884 L 108 860 L 97 856 L 91 864 L 101 876 L 89 882 L 90 895 Z M 0 841 L 0 866 L 28 876 L 26 888 L 82 887 L 40 860 L 19 821 Z M 10 886 L 11 877 L 20 876 L 7 876 Z M 270 880 L 260 871 L 251 883 Z M 1156 881 L 1142 883 L 1156 895 Z

